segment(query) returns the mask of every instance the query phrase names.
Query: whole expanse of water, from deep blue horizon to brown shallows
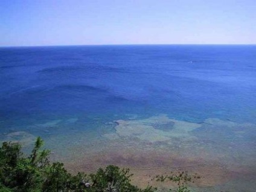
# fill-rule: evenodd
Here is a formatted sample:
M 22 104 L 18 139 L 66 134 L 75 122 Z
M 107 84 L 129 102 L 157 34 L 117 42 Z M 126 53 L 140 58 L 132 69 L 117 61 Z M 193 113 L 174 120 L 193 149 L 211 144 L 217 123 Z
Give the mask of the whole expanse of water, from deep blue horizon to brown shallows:
M 74 172 L 116 164 L 142 186 L 181 169 L 197 191 L 255 191 L 256 46 L 0 48 L 0 140 L 36 136 Z

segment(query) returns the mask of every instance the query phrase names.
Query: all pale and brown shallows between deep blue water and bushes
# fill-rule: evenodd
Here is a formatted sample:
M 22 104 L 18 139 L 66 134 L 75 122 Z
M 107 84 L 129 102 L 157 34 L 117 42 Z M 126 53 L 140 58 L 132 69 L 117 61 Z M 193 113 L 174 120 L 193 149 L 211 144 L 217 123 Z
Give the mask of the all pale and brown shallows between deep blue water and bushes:
M 77 121 L 73 119 L 72 123 Z M 53 126 L 53 123 L 56 126 L 58 122 L 51 121 L 40 126 L 45 129 L 45 126 Z M 243 131 L 240 130 L 241 126 Z M 245 132 L 249 134 L 251 126 L 254 125 L 214 118 L 196 124 L 156 115 L 104 123 L 95 132 L 84 130 L 51 135 L 45 139 L 45 143 L 46 148 L 53 152 L 51 160 L 63 162 L 71 173 L 90 173 L 113 164 L 130 168 L 130 173 L 134 174 L 133 184 L 139 187 L 146 187 L 148 184 L 167 187 L 169 183 L 151 181 L 152 176 L 170 174 L 171 171 L 188 171 L 188 174 L 200 176 L 200 179 L 191 183 L 192 187 L 214 190 L 220 186 L 230 185 L 232 188 L 243 178 L 248 178 L 248 181 L 255 178 L 255 152 L 251 152 L 247 144 L 240 145 L 243 141 L 241 136 Z M 236 140 L 222 140 L 222 135 L 213 132 L 218 132 L 218 129 L 232 131 L 237 136 L 234 137 Z M 19 138 L 29 144 L 33 143 L 34 136 L 20 131 L 8 134 L 7 138 Z M 251 156 L 246 156 L 244 149 Z M 246 182 L 241 185 L 244 183 Z

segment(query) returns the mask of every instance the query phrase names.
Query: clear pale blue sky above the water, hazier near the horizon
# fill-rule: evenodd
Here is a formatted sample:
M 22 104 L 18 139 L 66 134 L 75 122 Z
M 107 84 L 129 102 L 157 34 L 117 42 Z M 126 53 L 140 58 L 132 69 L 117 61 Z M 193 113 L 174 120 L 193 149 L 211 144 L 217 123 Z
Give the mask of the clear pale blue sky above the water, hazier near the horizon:
M 256 0 L 0 0 L 0 46 L 256 44 Z

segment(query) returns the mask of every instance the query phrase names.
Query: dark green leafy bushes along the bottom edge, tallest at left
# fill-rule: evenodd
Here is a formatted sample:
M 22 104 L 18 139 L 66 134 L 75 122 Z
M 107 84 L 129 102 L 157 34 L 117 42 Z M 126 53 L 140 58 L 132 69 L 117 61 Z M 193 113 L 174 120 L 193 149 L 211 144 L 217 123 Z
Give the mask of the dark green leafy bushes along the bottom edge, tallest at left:
M 21 144 L 3 142 L 0 147 L 0 191 L 2 192 L 153 192 L 157 188 L 149 186 L 141 189 L 131 184 L 132 174 L 128 168 L 109 165 L 99 168 L 96 173 L 68 173 L 61 162 L 50 162 L 49 150 L 41 150 L 43 140 L 38 137 L 31 155 L 21 152 Z M 188 174 L 156 176 L 156 181 L 178 182 L 177 192 L 187 192 L 184 182 Z M 191 179 L 191 178 L 190 178 Z

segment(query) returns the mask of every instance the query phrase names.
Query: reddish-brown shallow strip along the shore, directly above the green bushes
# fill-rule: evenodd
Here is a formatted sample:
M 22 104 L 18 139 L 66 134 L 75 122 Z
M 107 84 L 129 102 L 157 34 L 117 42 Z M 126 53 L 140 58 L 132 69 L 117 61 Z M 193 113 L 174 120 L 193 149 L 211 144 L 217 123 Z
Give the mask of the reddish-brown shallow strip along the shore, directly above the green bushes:
M 145 159 L 144 156 L 150 156 Z M 94 172 L 99 167 L 106 167 L 109 164 L 117 165 L 122 168 L 129 168 L 130 173 L 133 174 L 132 182 L 138 187 L 146 187 L 153 185 L 158 187 L 175 186 L 171 182 L 159 183 L 152 181 L 153 176 L 161 174 L 178 173 L 178 171 L 187 171 L 191 176 L 198 175 L 200 179 L 193 179 L 188 185 L 197 188 L 215 188 L 228 184 L 228 182 L 235 182 L 242 178 L 255 178 L 255 167 L 240 168 L 237 167 L 227 168 L 225 165 L 218 164 L 217 162 L 202 161 L 202 159 L 182 159 L 166 155 L 164 153 L 140 153 L 140 152 L 109 152 L 88 154 L 82 159 L 74 161 L 63 161 L 65 167 L 72 173 L 78 171 Z

